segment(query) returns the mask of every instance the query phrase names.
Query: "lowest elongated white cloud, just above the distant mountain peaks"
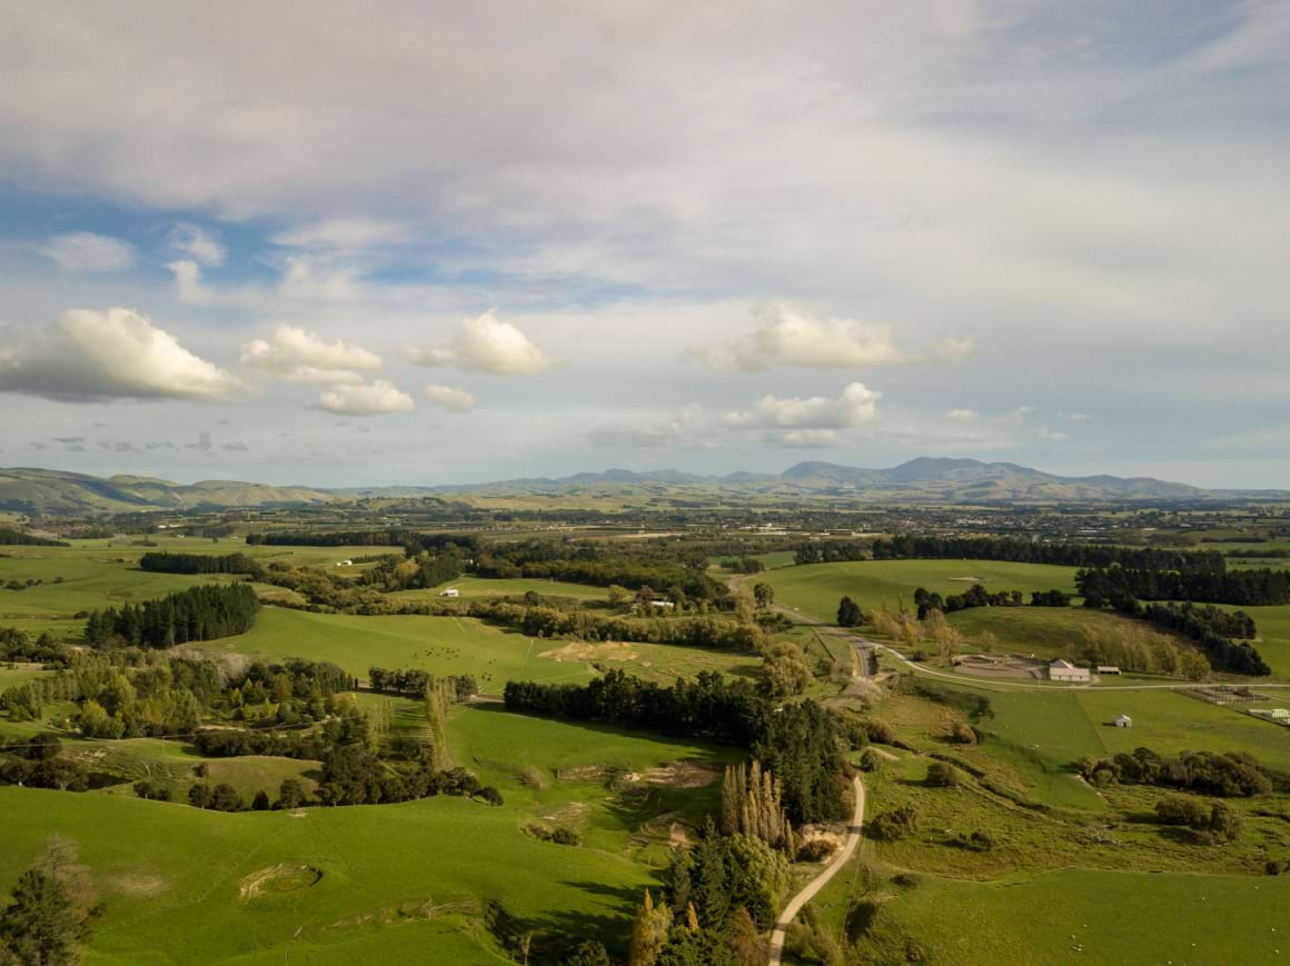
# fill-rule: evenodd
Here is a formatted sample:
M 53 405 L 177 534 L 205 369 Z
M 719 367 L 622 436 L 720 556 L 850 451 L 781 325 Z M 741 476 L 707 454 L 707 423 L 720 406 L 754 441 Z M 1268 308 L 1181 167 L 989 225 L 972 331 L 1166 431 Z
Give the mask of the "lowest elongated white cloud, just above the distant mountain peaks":
M 810 396 L 779 399 L 765 395 L 748 409 L 713 414 L 689 406 L 657 426 L 609 424 L 587 433 L 601 446 L 713 446 L 756 431 L 768 442 L 783 446 L 829 446 L 840 432 L 877 418 L 880 392 L 851 383 L 836 399 Z

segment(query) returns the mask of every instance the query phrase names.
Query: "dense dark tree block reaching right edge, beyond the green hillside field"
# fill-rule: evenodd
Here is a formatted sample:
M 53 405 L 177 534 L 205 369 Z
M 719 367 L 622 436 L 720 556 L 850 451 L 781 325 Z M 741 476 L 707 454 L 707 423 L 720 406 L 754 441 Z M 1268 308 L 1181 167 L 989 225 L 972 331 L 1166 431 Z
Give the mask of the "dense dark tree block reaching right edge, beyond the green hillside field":
M 1219 557 L 1222 561 L 1223 557 Z M 1290 604 L 1290 570 L 1224 570 L 1223 566 L 1178 570 L 1090 567 L 1075 575 L 1093 606 L 1136 600 L 1210 601 L 1237 606 Z

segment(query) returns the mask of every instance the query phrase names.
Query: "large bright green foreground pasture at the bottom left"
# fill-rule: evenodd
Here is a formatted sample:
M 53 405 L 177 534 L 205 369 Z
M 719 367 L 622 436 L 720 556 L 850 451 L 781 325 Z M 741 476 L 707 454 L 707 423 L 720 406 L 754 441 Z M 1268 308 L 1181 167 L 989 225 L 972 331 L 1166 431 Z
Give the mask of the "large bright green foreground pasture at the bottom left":
M 486 900 L 535 930 L 602 936 L 620 949 L 651 883 L 614 851 L 525 834 L 512 807 L 446 796 L 297 818 L 8 787 L 0 816 L 5 882 L 49 836 L 76 843 L 104 902 L 89 962 L 338 962 L 346 952 L 369 960 L 373 949 L 404 961 L 488 961 L 481 927 L 476 945 L 424 922 L 386 926 L 424 920 L 427 904 L 476 917 Z M 321 878 L 297 891 L 246 894 L 257 873 L 279 865 Z

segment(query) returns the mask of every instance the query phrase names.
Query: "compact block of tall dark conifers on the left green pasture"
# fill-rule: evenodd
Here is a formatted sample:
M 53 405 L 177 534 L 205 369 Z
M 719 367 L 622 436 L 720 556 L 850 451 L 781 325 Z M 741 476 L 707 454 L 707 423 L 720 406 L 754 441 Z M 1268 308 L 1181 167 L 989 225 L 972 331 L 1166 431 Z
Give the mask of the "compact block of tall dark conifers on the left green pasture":
M 213 641 L 250 631 L 258 610 L 249 584 L 191 587 L 161 600 L 124 604 L 120 610 L 95 610 L 85 622 L 85 640 L 94 647 Z

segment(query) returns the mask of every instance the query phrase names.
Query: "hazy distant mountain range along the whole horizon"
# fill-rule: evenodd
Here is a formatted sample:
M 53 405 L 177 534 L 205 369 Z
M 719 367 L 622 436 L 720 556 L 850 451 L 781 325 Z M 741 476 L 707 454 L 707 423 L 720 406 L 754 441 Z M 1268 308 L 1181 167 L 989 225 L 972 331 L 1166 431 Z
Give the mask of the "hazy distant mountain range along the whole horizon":
M 633 472 L 606 469 L 559 478 L 537 477 L 459 486 L 372 486 L 321 489 L 273 486 L 236 480 L 175 484 L 146 476 L 97 477 L 57 469 L 0 469 L 0 509 L 41 515 L 120 513 L 129 511 L 232 507 L 290 507 L 356 499 L 466 499 L 471 494 L 506 497 L 623 493 L 644 488 L 658 495 L 864 495 L 891 502 L 1115 502 L 1290 499 L 1285 490 L 1206 490 L 1151 477 L 1057 476 L 1015 463 L 920 457 L 889 469 L 866 469 L 836 463 L 797 463 L 782 473 L 735 472 L 697 476 L 676 469 Z

